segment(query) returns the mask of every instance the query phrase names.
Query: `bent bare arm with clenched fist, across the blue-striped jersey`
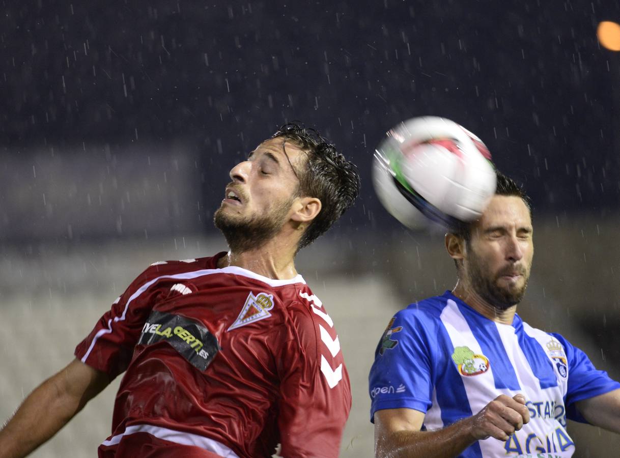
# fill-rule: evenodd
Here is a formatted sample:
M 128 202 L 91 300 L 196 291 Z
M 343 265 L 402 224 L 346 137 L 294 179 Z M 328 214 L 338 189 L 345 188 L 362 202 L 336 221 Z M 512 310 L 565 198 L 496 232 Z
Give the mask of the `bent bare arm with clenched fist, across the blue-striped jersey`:
M 374 414 L 374 455 L 454 457 L 482 439 L 494 437 L 505 441 L 529 421 L 522 395 L 500 395 L 476 415 L 436 431 L 420 431 L 424 416 L 409 408 L 378 410 Z

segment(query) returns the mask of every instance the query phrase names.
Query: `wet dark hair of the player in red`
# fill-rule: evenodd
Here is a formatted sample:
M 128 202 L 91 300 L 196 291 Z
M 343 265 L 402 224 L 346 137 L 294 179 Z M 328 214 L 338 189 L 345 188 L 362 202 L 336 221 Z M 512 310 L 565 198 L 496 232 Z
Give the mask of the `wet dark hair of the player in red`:
M 300 250 L 324 234 L 353 205 L 360 194 L 360 175 L 355 164 L 347 161 L 329 140 L 298 121 L 281 126 L 272 135 L 277 137 L 292 141 L 306 152 L 308 160 L 298 175 L 299 194 L 321 200 L 321 211 L 299 240 Z

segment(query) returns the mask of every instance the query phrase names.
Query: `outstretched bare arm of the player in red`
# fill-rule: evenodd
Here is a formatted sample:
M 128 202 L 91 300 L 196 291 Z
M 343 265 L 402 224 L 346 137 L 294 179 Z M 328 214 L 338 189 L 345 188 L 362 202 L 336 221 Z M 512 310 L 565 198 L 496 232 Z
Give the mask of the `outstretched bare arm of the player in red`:
M 24 457 L 58 432 L 110 383 L 78 359 L 40 384 L 0 431 L 0 458 Z

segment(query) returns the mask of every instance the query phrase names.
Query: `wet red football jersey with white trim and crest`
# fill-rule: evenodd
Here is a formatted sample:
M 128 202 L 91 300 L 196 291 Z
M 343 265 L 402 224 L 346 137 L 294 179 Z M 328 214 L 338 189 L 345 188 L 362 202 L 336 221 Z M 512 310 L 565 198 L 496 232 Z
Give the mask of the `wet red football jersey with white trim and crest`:
M 278 443 L 286 458 L 338 456 L 351 392 L 334 322 L 301 275 L 219 269 L 224 254 L 151 265 L 76 347 L 125 371 L 100 456 L 149 435 L 233 458 Z

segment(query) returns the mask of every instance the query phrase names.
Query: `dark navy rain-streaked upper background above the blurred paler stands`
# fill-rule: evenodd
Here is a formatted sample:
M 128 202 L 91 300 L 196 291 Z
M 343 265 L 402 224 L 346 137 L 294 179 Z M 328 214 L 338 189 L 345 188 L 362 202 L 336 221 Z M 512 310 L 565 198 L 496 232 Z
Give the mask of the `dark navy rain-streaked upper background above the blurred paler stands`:
M 618 1 L 38 1 L 3 12 L 3 156 L 105 150 L 110 161 L 180 141 L 210 209 L 235 161 L 301 120 L 360 167 L 362 201 L 342 224 L 374 227 L 393 222 L 370 185 L 373 148 L 397 122 L 439 115 L 477 133 L 538 211 L 618 206 L 618 56 L 596 40 Z

